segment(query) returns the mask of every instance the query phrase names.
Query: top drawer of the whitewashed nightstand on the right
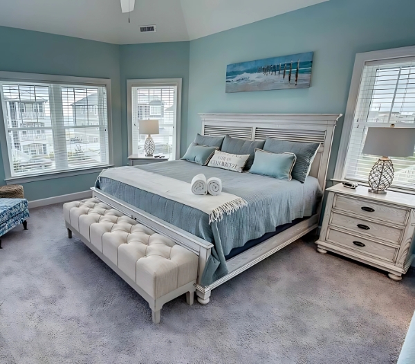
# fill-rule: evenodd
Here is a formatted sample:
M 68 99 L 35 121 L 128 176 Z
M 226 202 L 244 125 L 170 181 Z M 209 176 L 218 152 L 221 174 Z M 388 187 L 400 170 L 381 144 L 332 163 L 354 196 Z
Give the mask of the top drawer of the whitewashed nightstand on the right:
M 333 202 L 333 208 L 354 212 L 358 215 L 371 217 L 372 219 L 387 220 L 398 224 L 406 224 L 409 210 L 365 199 L 353 199 L 353 197 L 337 194 Z

